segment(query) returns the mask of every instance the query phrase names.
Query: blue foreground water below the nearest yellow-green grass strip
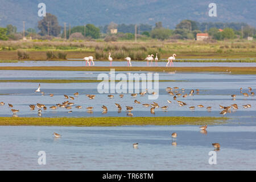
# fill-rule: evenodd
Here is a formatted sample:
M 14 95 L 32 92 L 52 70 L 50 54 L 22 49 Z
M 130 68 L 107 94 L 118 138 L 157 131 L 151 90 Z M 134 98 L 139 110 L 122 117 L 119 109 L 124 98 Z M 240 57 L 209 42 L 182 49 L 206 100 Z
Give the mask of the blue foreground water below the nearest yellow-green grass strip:
M 198 126 L 0 126 L 0 170 L 255 170 L 255 131 L 239 125 L 209 126 L 207 134 Z M 210 165 L 214 142 L 221 148 Z M 39 151 L 46 152 L 46 165 L 38 164 Z

